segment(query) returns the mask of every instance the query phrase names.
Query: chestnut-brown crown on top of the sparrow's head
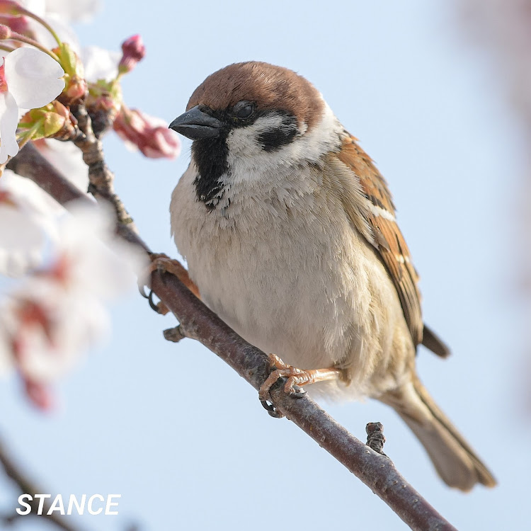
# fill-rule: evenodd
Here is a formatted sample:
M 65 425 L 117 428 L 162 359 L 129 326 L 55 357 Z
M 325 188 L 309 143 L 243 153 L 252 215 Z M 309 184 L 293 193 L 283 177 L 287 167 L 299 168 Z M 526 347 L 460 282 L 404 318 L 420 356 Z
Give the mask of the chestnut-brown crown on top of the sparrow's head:
M 186 110 L 195 105 L 225 110 L 246 100 L 259 110 L 279 109 L 295 115 L 308 128 L 321 118 L 324 102 L 319 91 L 290 69 L 258 61 L 229 64 L 195 89 Z

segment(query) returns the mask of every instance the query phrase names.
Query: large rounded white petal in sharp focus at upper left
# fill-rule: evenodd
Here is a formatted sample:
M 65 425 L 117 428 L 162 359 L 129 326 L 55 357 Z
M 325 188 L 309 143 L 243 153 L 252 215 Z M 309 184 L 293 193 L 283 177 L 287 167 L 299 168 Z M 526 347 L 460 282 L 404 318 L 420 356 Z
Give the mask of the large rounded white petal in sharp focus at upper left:
M 4 65 L 8 91 L 19 107 L 42 107 L 64 89 L 64 70 L 45 52 L 17 48 L 4 57 Z

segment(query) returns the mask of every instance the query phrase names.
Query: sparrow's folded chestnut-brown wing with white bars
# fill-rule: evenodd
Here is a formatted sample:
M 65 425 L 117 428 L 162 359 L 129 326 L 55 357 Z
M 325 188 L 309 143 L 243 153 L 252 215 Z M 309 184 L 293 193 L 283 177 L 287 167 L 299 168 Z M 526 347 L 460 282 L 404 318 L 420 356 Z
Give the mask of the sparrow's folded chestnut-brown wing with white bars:
M 394 221 L 394 205 L 387 183 L 372 159 L 348 136 L 336 156 L 360 179 L 362 192 L 370 202 L 367 220 L 375 232 L 375 246 L 389 271 L 398 292 L 411 337 L 416 345 L 422 342 L 423 321 L 418 275 L 404 236 Z

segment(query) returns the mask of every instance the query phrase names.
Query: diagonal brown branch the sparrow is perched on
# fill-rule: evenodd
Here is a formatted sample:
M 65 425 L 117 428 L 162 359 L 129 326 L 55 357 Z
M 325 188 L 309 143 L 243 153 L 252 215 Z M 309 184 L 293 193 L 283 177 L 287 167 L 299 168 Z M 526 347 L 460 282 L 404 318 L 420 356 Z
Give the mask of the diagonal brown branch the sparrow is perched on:
M 19 159 L 18 162 L 17 159 Z M 10 166 L 17 173 L 35 180 L 33 175 L 35 164 L 39 163 L 41 168 L 45 166 L 41 159 L 42 156 L 35 149 L 26 146 L 11 161 Z M 53 183 L 49 183 L 46 188 L 52 194 L 61 190 L 62 186 L 69 186 L 68 181 L 52 166 L 48 167 L 46 175 L 41 174 L 39 179 Z M 35 182 L 38 181 L 35 180 Z M 79 191 L 77 195 L 79 198 L 83 197 Z M 61 202 L 60 193 L 53 196 Z M 147 250 L 147 246 L 137 234 L 122 226 L 121 234 L 125 235 L 125 233 L 129 233 L 126 238 L 128 241 L 137 243 L 142 246 L 142 249 Z M 268 375 L 265 353 L 238 336 L 173 275 L 154 271 L 152 289 L 180 322 L 178 336 L 197 339 L 234 368 L 255 389 L 258 390 L 261 387 Z M 281 386 L 274 386 L 270 394 L 275 408 L 297 424 L 333 457 L 336 457 L 350 472 L 358 476 L 411 529 L 418 531 L 455 530 L 455 527 L 442 518 L 407 483 L 390 459 L 379 455 L 353 437 L 308 396 L 295 399 L 285 394 Z

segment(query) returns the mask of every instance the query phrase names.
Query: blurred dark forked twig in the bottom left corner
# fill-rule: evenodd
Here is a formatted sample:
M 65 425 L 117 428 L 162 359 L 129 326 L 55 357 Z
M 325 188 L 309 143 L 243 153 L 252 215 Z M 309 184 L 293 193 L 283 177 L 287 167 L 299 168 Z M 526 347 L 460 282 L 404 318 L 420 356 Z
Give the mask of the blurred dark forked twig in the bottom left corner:
M 30 479 L 28 479 L 27 474 L 25 472 L 22 472 L 21 468 L 16 464 L 11 457 L 8 456 L 8 452 L 6 450 L 6 447 L 4 447 L 4 444 L 0 440 L 0 463 L 2 464 L 2 467 L 4 467 L 4 472 L 6 472 L 6 475 L 11 478 L 14 483 L 18 486 L 18 489 L 20 489 L 22 494 L 30 494 L 33 498 L 33 501 L 25 501 L 25 503 L 28 503 L 31 506 L 31 513 L 29 513 L 28 516 L 33 516 L 34 518 L 46 518 L 46 520 L 50 521 L 51 523 L 55 524 L 59 529 L 62 529 L 63 531 L 80 531 L 79 527 L 74 527 L 70 525 L 62 516 L 58 515 L 57 513 L 51 513 L 50 515 L 47 514 L 48 510 L 52 507 L 52 503 L 50 502 L 51 498 L 45 498 L 42 505 L 42 513 L 38 514 L 38 506 L 39 502 L 35 500 L 35 494 L 38 493 L 45 493 L 46 490 L 40 489 L 36 484 L 33 483 Z M 14 513 L 12 515 L 4 515 L 4 523 L 13 524 L 18 520 L 18 518 L 23 518 L 22 515 L 18 515 L 18 513 Z

